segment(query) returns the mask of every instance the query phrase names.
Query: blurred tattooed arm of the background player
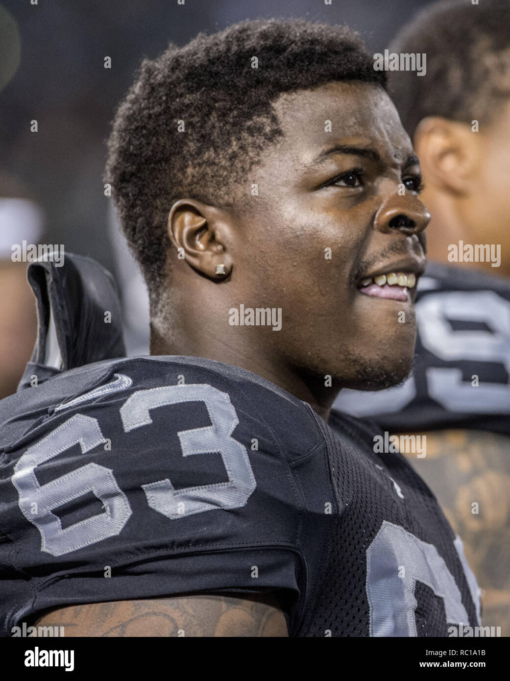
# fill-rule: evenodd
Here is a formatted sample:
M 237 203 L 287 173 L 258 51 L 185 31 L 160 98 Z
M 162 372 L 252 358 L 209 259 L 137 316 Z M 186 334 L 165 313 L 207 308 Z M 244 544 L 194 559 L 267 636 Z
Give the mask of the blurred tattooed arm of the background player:
M 480 430 L 427 432 L 409 454 L 464 542 L 482 589 L 482 620 L 510 635 L 510 438 Z

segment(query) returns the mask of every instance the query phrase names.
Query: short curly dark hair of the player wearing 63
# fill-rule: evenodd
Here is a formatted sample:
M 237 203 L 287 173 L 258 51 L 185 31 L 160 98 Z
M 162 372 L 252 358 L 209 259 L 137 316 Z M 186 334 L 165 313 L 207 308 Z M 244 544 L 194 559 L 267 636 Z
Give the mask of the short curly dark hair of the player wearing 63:
M 332 81 L 385 87 L 373 65 L 347 27 L 274 19 L 200 33 L 144 59 L 114 118 L 105 181 L 151 304 L 164 279 L 172 204 L 189 197 L 232 206 L 232 187 L 283 135 L 278 96 Z

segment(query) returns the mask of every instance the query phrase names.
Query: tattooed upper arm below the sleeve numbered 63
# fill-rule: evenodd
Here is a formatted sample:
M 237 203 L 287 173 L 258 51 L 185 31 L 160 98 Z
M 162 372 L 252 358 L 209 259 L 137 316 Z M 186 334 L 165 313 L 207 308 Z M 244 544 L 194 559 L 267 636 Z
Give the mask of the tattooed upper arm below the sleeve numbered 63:
M 288 636 L 285 616 L 270 596 L 187 595 L 54 610 L 36 626 L 64 627 L 65 636 Z

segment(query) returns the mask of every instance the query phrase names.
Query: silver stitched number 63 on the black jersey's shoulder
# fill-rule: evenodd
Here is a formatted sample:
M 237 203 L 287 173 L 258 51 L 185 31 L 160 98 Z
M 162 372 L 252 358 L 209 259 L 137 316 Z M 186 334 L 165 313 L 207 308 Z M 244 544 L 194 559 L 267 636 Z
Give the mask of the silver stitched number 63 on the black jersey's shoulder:
M 139 390 L 121 407 L 125 432 L 152 424 L 151 409 L 180 402 L 204 402 L 212 424 L 178 432 L 182 456 L 219 452 L 229 479 L 182 490 L 174 490 L 170 479 L 153 481 L 142 485 L 148 505 L 170 520 L 244 506 L 256 483 L 246 447 L 232 437 L 239 419 L 227 393 L 206 384 Z M 118 535 L 129 520 L 131 505 L 106 466 L 89 463 L 44 485 L 35 477 L 37 466 L 74 445 L 86 454 L 104 443 L 97 419 L 77 414 L 29 447 L 16 463 L 12 483 L 23 515 L 41 534 L 42 551 L 52 556 L 76 551 Z M 103 503 L 104 512 L 63 528 L 53 511 L 90 492 Z

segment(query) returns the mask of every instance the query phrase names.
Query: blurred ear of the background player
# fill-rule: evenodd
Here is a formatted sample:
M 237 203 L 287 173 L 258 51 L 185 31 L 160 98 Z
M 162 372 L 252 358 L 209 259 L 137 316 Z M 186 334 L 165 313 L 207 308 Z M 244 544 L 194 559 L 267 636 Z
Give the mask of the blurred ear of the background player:
M 471 125 L 427 116 L 413 142 L 426 185 L 457 195 L 470 193 L 480 168 L 479 133 Z

